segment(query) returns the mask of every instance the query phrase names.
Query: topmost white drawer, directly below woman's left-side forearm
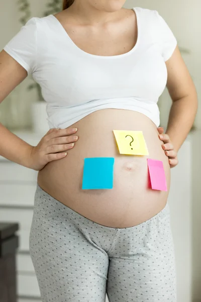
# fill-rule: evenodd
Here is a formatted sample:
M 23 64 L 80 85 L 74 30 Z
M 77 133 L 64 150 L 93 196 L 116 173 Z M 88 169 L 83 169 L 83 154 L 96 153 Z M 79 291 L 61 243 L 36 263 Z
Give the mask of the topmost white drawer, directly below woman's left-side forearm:
M 11 161 L 0 162 L 0 183 L 3 181 L 37 181 L 38 171 L 26 168 Z

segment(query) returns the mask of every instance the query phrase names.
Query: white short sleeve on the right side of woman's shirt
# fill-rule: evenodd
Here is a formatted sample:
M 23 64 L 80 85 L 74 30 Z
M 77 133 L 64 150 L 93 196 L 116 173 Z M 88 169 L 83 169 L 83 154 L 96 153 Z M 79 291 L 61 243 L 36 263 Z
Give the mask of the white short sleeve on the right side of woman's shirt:
M 166 21 L 159 15 L 157 11 L 154 12 L 156 14 L 156 32 L 158 43 L 160 45 L 164 61 L 167 61 L 176 48 L 177 41 Z

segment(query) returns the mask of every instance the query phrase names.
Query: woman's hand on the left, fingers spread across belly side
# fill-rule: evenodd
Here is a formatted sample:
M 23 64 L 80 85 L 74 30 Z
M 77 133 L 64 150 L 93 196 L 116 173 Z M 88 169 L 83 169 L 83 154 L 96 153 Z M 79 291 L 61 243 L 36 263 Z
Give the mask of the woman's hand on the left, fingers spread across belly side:
M 72 149 L 78 137 L 74 136 L 77 128 L 50 129 L 40 140 L 37 146 L 33 146 L 30 155 L 30 168 L 36 171 L 42 170 L 49 162 L 64 158 L 67 150 Z M 73 136 L 72 136 L 73 135 Z

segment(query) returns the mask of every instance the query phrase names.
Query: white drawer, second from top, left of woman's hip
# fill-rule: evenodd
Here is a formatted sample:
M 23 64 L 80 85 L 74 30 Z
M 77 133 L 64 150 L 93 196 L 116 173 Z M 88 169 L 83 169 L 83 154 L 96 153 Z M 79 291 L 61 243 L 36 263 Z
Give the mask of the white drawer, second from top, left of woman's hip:
M 2 184 L 0 182 L 0 205 L 34 206 L 34 195 L 37 183 Z

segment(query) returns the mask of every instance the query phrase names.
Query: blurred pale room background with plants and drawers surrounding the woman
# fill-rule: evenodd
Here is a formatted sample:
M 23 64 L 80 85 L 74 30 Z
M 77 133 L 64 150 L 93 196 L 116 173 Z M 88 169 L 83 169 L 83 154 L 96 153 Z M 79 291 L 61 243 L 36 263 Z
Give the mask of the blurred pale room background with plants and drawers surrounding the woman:
M 124 7 L 157 10 L 165 19 L 177 39 L 200 103 L 201 2 L 127 0 Z M 31 17 L 44 17 L 60 10 L 61 0 L 0 0 L 0 49 L 3 49 Z M 171 106 L 167 89 L 158 104 L 161 126 L 166 128 Z M 36 145 L 48 131 L 45 106 L 40 87 L 29 75 L 0 105 L 0 121 L 22 139 Z M 199 106 L 194 125 L 179 150 L 179 165 L 171 169 L 169 204 L 176 255 L 178 302 L 201 302 L 200 134 Z M 36 177 L 36 171 L 0 157 L 0 222 L 19 223 L 19 247 L 16 250 L 18 302 L 40 301 L 38 283 L 29 255 Z M 14 302 L 15 299 L 1 297 L 1 280 L 4 279 L 4 274 L 6 270 L 3 271 L 1 267 L 0 258 L 0 302 Z

